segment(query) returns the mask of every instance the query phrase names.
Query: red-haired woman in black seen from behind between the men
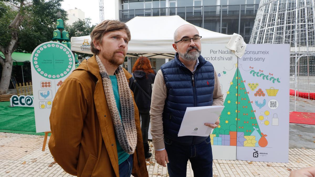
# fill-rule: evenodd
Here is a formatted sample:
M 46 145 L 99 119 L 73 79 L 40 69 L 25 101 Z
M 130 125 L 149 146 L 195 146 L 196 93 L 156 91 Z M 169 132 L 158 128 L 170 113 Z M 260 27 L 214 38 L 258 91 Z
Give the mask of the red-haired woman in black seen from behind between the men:
M 149 152 L 148 144 L 148 130 L 150 123 L 149 111 L 152 95 L 151 84 L 154 83 L 156 73 L 151 67 L 150 60 L 146 57 L 139 57 L 135 62 L 132 71 L 133 77 L 129 79 L 129 87 L 134 92 L 135 102 L 141 116 L 141 132 L 145 157 L 150 158 L 152 153 Z M 138 85 L 134 82 L 134 80 L 138 83 Z

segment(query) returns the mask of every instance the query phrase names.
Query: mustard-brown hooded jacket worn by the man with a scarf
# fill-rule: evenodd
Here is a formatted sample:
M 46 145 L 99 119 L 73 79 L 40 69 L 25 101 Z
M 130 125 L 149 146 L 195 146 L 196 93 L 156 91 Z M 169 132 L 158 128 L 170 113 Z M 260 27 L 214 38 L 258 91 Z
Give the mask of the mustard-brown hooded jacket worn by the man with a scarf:
M 123 70 L 129 81 L 131 75 Z M 138 141 L 132 175 L 146 177 L 148 172 L 135 101 L 134 107 Z M 119 176 L 115 131 L 95 56 L 84 60 L 62 83 L 49 119 L 52 132 L 49 150 L 67 173 L 82 177 Z

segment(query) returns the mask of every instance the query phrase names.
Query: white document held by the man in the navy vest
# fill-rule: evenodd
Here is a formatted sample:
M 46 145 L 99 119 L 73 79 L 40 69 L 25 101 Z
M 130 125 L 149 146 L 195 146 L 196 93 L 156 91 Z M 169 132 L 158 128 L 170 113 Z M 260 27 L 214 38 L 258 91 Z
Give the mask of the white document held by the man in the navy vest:
M 215 123 L 224 106 L 187 107 L 177 136 L 209 136 L 212 128 L 204 123 Z

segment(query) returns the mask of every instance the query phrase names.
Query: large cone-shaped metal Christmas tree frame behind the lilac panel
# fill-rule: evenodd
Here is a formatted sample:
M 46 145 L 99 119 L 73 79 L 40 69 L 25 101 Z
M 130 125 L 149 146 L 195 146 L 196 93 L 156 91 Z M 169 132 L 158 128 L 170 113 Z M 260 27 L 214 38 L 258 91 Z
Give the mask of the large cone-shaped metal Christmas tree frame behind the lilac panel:
M 261 0 L 249 43 L 290 44 L 290 89 L 315 93 L 315 0 Z M 298 91 L 306 93 L 297 95 Z M 294 104 L 295 105 L 295 104 Z M 295 107 L 294 107 L 295 110 Z

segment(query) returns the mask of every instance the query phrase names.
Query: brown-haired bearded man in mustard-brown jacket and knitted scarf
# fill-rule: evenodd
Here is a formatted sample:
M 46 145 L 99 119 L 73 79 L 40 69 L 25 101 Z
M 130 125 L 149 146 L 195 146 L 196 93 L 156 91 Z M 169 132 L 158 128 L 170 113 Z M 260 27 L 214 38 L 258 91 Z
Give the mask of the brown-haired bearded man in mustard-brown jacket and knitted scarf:
M 138 108 L 123 64 L 128 27 L 105 20 L 91 33 L 94 55 L 59 88 L 50 114 L 49 150 L 75 176 L 148 176 Z

